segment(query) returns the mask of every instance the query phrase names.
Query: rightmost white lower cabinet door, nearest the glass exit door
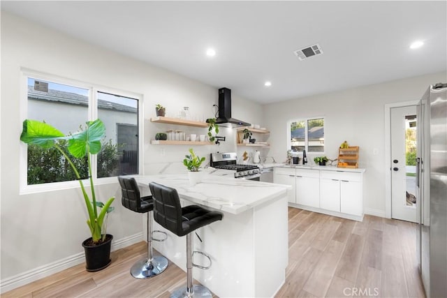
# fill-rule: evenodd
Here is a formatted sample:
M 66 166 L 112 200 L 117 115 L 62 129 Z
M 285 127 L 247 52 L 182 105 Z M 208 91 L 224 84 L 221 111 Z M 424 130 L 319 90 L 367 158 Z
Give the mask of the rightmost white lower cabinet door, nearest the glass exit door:
M 340 211 L 361 216 L 363 214 L 362 183 L 359 181 L 340 181 Z

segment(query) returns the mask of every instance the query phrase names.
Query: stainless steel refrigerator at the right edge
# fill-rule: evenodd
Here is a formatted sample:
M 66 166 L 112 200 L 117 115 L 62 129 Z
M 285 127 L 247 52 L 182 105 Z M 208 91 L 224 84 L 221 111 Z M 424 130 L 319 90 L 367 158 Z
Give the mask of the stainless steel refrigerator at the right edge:
M 419 269 L 427 297 L 447 297 L 447 84 L 427 89 L 417 121 Z

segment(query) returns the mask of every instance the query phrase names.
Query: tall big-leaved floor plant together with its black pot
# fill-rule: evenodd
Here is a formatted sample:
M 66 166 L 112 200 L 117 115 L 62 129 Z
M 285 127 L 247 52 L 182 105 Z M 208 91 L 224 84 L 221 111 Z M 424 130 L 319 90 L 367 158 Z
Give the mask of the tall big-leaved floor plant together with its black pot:
M 36 144 L 43 149 L 55 148 L 61 152 L 66 161 L 71 165 L 76 179 L 78 179 L 82 196 L 87 208 L 87 225 L 91 232 L 91 237 L 82 242 L 85 249 L 85 260 L 87 271 L 98 271 L 110 265 L 110 247 L 113 236 L 107 234 L 107 216 L 115 207 L 111 207 L 115 197 L 109 198 L 105 204 L 96 200 L 93 178 L 91 173 L 91 155 L 101 151 L 101 140 L 105 137 L 105 126 L 100 119 L 87 121 L 84 130 L 69 135 L 64 135 L 61 131 L 45 122 L 36 120 L 23 121 L 23 131 L 20 140 L 26 144 Z M 82 178 L 78 169 L 68 156 L 61 149 L 59 142 L 68 141 L 68 153 L 74 158 L 87 157 L 90 195 L 85 190 Z M 98 212 L 99 208 L 99 212 Z

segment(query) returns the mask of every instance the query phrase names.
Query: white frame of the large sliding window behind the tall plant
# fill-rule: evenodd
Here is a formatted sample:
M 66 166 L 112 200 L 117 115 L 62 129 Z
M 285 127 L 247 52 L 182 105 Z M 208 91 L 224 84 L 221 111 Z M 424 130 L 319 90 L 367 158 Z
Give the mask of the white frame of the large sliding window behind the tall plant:
M 88 119 L 93 120 L 98 117 L 98 98 L 97 92 L 105 92 L 109 94 L 116 94 L 117 96 L 125 96 L 129 98 L 134 98 L 138 100 L 138 173 L 142 173 L 142 165 L 143 161 L 143 140 L 142 136 L 144 135 L 143 129 L 143 96 L 142 94 L 136 94 L 131 91 L 124 91 L 121 89 L 115 89 L 110 87 L 104 87 L 98 84 L 82 82 L 79 80 L 67 79 L 64 77 L 60 77 L 57 75 L 50 75 L 47 73 L 41 73 L 36 70 L 29 70 L 22 68 L 21 69 L 21 78 L 20 78 L 20 127 L 22 126 L 22 122 L 24 119 L 28 119 L 28 78 L 32 77 L 36 80 L 44 80 L 47 82 L 54 82 L 58 84 L 66 84 L 68 86 L 79 87 L 83 89 L 89 90 L 89 105 L 88 105 Z M 31 184 L 28 185 L 27 174 L 28 174 L 28 145 L 24 142 L 20 142 L 20 195 L 29 194 L 29 193 L 42 193 L 46 191 L 59 191 L 64 189 L 71 188 L 80 188 L 79 182 L 76 180 L 73 181 L 59 181 L 59 182 L 51 182 L 45 184 Z M 101 184 L 112 184 L 117 182 L 117 177 L 97 177 L 97 158 L 96 155 L 91 156 L 91 164 L 92 166 L 92 175 L 94 185 Z M 85 179 L 83 181 L 85 184 L 88 184 L 89 181 Z

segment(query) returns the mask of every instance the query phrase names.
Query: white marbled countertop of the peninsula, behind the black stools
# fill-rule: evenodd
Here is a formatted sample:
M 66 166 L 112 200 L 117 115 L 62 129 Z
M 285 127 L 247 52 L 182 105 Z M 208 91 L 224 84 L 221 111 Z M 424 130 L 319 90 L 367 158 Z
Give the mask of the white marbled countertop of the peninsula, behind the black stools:
M 291 188 L 282 184 L 221 177 L 209 172 L 203 172 L 202 181 L 195 186 L 189 185 L 187 173 L 133 177 L 140 187 L 149 189 L 149 183 L 155 181 L 177 189 L 179 197 L 184 200 L 230 214 L 240 214 L 268 200 L 282 198 Z

